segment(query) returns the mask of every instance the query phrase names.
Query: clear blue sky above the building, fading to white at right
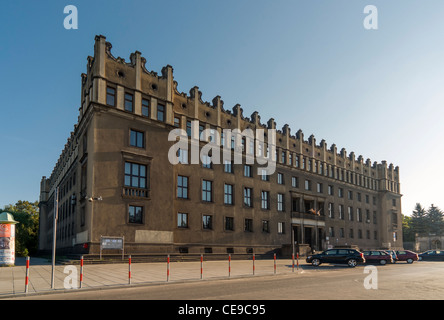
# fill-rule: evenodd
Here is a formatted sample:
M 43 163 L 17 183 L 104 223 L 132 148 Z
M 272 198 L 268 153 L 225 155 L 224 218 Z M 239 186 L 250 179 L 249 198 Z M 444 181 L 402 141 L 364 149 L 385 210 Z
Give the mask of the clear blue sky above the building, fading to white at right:
M 363 26 L 378 9 L 378 29 Z M 78 29 L 63 9 L 75 5 Z M 0 208 L 39 198 L 74 124 L 80 75 L 103 34 L 114 56 L 170 64 L 244 115 L 400 167 L 403 213 L 444 209 L 444 1 L 4 1 Z

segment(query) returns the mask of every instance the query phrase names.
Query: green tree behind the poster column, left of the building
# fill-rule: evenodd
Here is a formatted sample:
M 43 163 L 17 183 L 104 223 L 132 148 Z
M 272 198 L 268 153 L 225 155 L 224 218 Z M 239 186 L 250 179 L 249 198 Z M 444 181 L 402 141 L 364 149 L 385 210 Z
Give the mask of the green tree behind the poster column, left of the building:
M 7 205 L 4 210 L 14 216 L 16 224 L 15 251 L 18 256 L 35 254 L 38 250 L 39 203 L 19 200 Z

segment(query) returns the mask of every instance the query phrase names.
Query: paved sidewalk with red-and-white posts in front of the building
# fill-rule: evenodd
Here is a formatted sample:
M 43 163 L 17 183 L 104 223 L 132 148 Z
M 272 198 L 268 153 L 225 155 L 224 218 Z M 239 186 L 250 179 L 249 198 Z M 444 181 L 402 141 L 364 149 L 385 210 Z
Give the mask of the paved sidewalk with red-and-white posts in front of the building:
M 171 262 L 169 276 L 167 262 L 131 263 L 128 259 L 122 263 L 85 264 L 83 281 L 80 285 L 80 265 L 56 265 L 54 289 L 51 288 L 51 262 L 45 259 L 30 259 L 28 292 L 25 293 L 25 258 L 17 258 L 14 267 L 0 267 L 0 299 L 18 297 L 24 294 L 49 294 L 69 290 L 100 289 L 128 285 L 150 285 L 178 281 L 199 281 L 221 278 L 253 277 L 263 275 L 301 273 L 302 260 L 297 261 L 293 269 L 291 259 L 231 260 L 230 272 L 226 261 Z M 276 265 L 276 268 L 275 268 Z M 73 288 L 70 288 L 73 287 Z

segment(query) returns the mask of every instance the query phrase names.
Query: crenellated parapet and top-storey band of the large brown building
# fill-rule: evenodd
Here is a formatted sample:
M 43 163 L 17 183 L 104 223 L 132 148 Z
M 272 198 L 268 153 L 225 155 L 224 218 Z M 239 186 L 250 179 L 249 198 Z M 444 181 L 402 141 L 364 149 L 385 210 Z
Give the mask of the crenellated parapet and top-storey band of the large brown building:
M 166 108 L 166 125 L 174 125 L 175 118 L 179 120 L 182 129 L 186 129 L 186 122 L 199 120 L 206 128 L 223 129 L 263 129 L 276 130 L 276 148 L 282 164 L 295 166 L 302 161 L 319 162 L 322 168 L 328 168 L 332 177 L 358 181 L 367 185 L 373 180 L 381 181 L 387 190 L 399 190 L 399 168 L 364 160 L 362 155 L 345 148 L 337 148 L 335 144 L 328 145 L 322 139 L 317 142 L 314 134 L 305 137 L 304 132 L 292 130 L 289 124 L 279 129 L 273 118 L 266 122 L 261 121 L 259 112 L 254 111 L 249 117 L 244 115 L 240 104 L 227 108 L 221 96 L 217 95 L 211 102 L 203 99 L 199 87 L 192 87 L 188 93 L 179 92 L 178 82 L 174 80 L 173 67 L 167 65 L 160 74 L 147 69 L 147 60 L 141 52 L 130 54 L 129 61 L 112 54 L 112 45 L 102 35 L 96 36 L 94 57 L 87 59 L 87 73 L 82 74 L 82 100 L 79 115 L 79 124 L 82 121 L 88 106 L 94 102 L 106 106 L 106 91 L 112 87 L 116 91 L 116 109 L 124 111 L 123 96 L 129 92 L 134 95 L 134 111 L 136 116 L 143 116 L 141 100 L 147 99 L 150 103 L 148 119 L 156 120 L 156 108 L 162 104 Z M 295 132 L 292 134 L 292 132 Z M 291 164 L 290 164 L 291 162 Z M 333 172 L 333 173 L 331 173 Z M 373 183 L 373 182 L 371 182 Z M 391 186 L 394 185 L 392 188 Z

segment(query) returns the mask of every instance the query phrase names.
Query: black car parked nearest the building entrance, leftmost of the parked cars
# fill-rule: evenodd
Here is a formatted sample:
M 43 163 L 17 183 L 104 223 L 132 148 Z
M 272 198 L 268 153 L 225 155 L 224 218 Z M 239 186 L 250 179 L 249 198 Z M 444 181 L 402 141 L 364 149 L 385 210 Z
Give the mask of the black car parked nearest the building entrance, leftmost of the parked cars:
M 364 254 L 354 249 L 329 249 L 319 254 L 309 255 L 307 263 L 319 266 L 321 263 L 348 264 L 356 267 L 359 263 L 365 263 Z

